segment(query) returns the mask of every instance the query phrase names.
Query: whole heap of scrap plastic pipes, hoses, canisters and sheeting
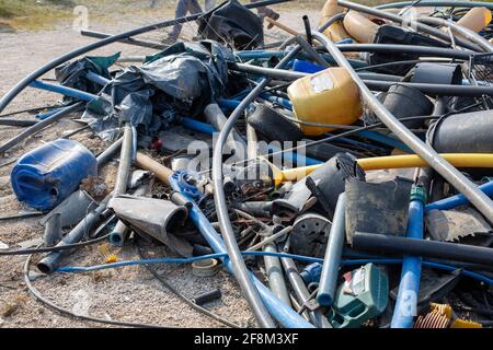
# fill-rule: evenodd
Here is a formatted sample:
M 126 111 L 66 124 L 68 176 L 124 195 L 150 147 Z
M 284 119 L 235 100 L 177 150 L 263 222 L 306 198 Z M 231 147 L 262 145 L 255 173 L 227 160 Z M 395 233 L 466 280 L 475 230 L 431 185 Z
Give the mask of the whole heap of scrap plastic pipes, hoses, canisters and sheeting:
M 303 33 L 267 20 L 291 34 L 264 44 L 233 0 L 198 19 L 204 40 L 124 70 L 119 55 L 76 58 L 173 21 L 54 60 L 27 85 L 65 104 L 0 150 L 72 112 L 111 145 L 96 158 L 60 139 L 19 159 L 15 195 L 49 212 L 45 247 L 27 253 L 45 252 L 44 273 L 93 271 L 144 261 L 69 267 L 70 252 L 145 237 L 173 252 L 156 262 L 233 273 L 260 327 L 491 327 L 492 9 L 329 0 Z M 225 24 L 228 11 L 243 21 Z M 54 68 L 58 85 L 36 81 Z M 117 153 L 96 200 L 84 188 Z

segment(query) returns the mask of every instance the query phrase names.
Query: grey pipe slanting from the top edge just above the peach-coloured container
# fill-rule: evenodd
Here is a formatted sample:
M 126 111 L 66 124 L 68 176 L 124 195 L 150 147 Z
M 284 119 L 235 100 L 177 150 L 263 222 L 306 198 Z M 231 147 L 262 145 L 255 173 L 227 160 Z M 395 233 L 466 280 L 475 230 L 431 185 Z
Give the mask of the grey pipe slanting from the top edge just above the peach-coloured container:
M 409 18 L 403 18 L 403 16 L 400 16 L 400 15 L 397 15 L 397 14 L 393 14 L 393 13 L 390 13 L 390 12 L 386 12 L 386 11 L 382 11 L 382 10 L 378 10 L 378 9 L 375 9 L 375 8 L 366 7 L 364 4 L 354 3 L 354 2 L 345 1 L 345 0 L 339 0 L 337 4 L 343 7 L 343 8 L 347 8 L 347 9 L 351 9 L 351 10 L 358 11 L 358 12 L 371 14 L 371 15 L 375 15 L 377 18 L 386 19 L 386 20 L 389 20 L 389 21 L 392 21 L 392 22 L 395 22 L 395 23 L 399 23 L 399 24 L 414 25 L 415 28 L 421 31 L 421 32 L 425 32 L 425 33 L 427 33 L 429 35 L 433 35 L 433 36 L 435 36 L 437 38 L 440 38 L 440 39 L 443 39 L 443 40 L 445 40 L 447 43 L 450 43 L 450 37 L 448 36 L 448 34 L 442 32 L 440 30 L 434 28 L 434 27 L 432 27 L 429 25 L 420 23 L 420 22 L 417 22 L 415 20 L 412 20 L 412 19 L 409 19 Z M 466 47 L 466 48 L 472 49 L 474 51 L 478 51 L 478 46 L 472 45 L 471 43 L 469 43 L 467 40 L 463 40 L 461 38 L 457 38 L 456 43 L 458 45 L 462 46 L 462 47 Z

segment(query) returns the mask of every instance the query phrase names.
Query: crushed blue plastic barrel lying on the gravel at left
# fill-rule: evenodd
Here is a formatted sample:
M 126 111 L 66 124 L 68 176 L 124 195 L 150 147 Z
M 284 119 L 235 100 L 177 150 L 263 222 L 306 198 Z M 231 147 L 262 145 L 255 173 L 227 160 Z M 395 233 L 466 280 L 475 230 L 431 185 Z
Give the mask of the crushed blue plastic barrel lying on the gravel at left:
M 98 175 L 91 151 L 77 141 L 60 139 L 24 154 L 12 170 L 11 183 L 20 201 L 49 210 L 90 175 Z

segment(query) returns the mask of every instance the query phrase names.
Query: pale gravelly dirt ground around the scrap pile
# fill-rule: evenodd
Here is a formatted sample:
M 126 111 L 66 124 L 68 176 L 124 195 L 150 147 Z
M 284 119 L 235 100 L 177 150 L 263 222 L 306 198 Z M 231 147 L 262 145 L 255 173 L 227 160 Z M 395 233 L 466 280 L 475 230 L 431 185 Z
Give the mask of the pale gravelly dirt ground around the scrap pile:
M 135 10 L 135 11 L 133 11 Z M 154 13 L 146 11 L 146 15 L 133 15 L 139 8 L 128 9 L 126 14 L 107 15 L 104 20 L 90 21 L 90 30 L 105 33 L 118 33 L 124 30 L 159 22 L 170 18 L 171 11 L 161 11 L 158 7 Z M 108 8 L 107 13 L 111 13 Z M 313 23 L 318 21 L 317 12 L 303 11 L 310 15 Z M 301 28 L 301 13 L 283 8 L 285 23 Z M 185 24 L 184 38 L 194 35 L 195 25 Z M 277 31 L 267 32 L 271 39 L 283 37 Z M 165 32 L 159 31 L 142 35 L 141 38 L 159 40 Z M 92 43 L 94 39 L 83 37 L 71 28 L 71 23 L 60 23 L 56 30 L 48 32 L 0 33 L 0 95 L 8 92 L 27 73 L 34 71 L 50 59 Z M 111 55 L 122 51 L 123 56 L 142 56 L 153 52 L 151 49 L 116 44 L 99 49 L 91 55 Z M 44 78 L 54 78 L 53 72 Z M 51 93 L 27 89 L 18 96 L 3 113 L 53 105 L 60 96 Z M 34 115 L 22 114 L 16 118 L 33 119 Z M 77 116 L 72 116 L 77 117 Z M 23 144 L 10 150 L 0 158 L 0 212 L 9 214 L 28 209 L 20 203 L 12 192 L 10 172 L 13 165 L 4 163 L 16 160 L 25 152 L 39 147 L 44 142 L 56 140 L 65 132 L 80 128 L 81 125 L 66 118 L 49 127 Z M 21 132 L 21 128 L 0 127 L 0 143 Z M 92 132 L 80 132 L 71 139 L 85 144 L 94 153 L 104 150 L 105 144 Z M 108 164 L 103 176 L 111 186 L 117 163 Z M 43 234 L 41 218 L 8 220 L 0 223 L 0 242 L 19 248 L 18 243 L 39 238 Z M 128 246 L 116 250 L 119 260 L 136 259 L 135 247 Z M 160 254 L 154 253 L 154 256 Z M 34 261 L 39 256 L 34 258 Z M 74 320 L 61 316 L 39 304 L 32 298 L 23 282 L 23 265 L 25 257 L 0 257 L 0 328 L 1 327 L 105 327 L 101 324 Z M 64 265 L 89 266 L 103 264 L 104 258 L 96 246 L 80 249 L 65 258 Z M 222 299 L 207 305 L 207 308 L 241 326 L 253 326 L 254 322 L 249 307 L 241 296 L 240 290 L 232 277 L 220 271 L 213 278 L 197 278 L 191 273 L 190 266 L 159 266 L 159 273 L 165 276 L 170 283 L 188 298 L 198 293 L 219 288 Z M 34 270 L 34 269 L 32 269 Z M 105 270 L 98 273 L 41 276 L 33 284 L 39 292 L 54 303 L 81 314 L 106 319 L 156 324 L 164 327 L 221 327 L 222 325 L 192 310 L 176 299 L 156 280 L 145 267 L 127 267 L 117 270 Z

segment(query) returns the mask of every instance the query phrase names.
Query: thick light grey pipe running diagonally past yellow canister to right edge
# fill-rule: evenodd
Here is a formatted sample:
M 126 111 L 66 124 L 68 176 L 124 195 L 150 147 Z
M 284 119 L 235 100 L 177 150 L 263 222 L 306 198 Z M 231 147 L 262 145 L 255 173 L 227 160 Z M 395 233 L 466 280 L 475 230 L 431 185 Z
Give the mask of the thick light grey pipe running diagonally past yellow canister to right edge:
M 429 164 L 438 174 L 440 174 L 450 185 L 452 185 L 490 221 L 493 222 L 493 202 L 478 187 L 468 179 L 462 173 L 455 168 L 450 163 L 445 161 L 438 153 L 424 143 L 413 132 L 411 132 L 401 121 L 399 121 L 371 93 L 371 91 L 359 79 L 356 71 L 351 67 L 344 55 L 337 47 L 322 33 L 313 32 L 313 38 L 319 40 L 339 66 L 344 67 L 351 74 L 353 81 L 358 85 L 363 100 L 368 107 L 378 116 L 378 118 L 393 132 L 395 136 Z

